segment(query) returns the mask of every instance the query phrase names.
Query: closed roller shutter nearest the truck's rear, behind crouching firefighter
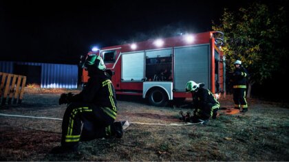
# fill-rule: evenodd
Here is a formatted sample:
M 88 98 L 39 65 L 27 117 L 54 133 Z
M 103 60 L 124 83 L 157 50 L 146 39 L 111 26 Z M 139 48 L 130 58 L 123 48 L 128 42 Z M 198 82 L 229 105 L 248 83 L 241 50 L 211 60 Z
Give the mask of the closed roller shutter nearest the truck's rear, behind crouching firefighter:
M 208 44 L 175 48 L 175 91 L 184 92 L 189 80 L 204 82 L 205 88 L 210 88 L 209 49 Z

